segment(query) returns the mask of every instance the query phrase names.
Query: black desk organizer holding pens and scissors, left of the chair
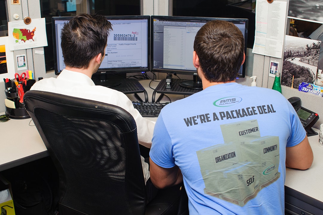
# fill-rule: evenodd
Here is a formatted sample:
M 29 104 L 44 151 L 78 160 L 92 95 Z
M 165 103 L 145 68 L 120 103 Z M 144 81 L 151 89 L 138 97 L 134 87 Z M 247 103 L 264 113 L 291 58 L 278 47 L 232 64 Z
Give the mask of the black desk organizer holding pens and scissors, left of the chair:
M 31 86 L 36 82 L 34 79 L 27 80 L 26 86 L 23 87 L 24 92 L 26 93 L 30 90 Z M 22 82 L 18 82 L 22 84 Z M 14 80 L 11 80 L 8 84 L 5 85 L 5 96 L 7 100 L 5 102 L 5 114 L 9 115 L 9 118 L 12 119 L 26 119 L 30 118 L 29 114 L 24 108 L 24 104 L 19 102 L 17 88 Z

